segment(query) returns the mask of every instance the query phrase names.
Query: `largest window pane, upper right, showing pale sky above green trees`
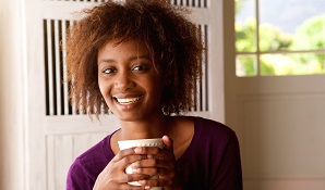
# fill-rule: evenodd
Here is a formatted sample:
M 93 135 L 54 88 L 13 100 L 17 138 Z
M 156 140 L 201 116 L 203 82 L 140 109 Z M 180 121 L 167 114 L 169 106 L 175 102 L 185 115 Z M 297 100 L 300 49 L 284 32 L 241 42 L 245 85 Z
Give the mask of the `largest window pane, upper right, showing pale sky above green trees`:
M 325 49 L 324 0 L 260 0 L 260 48 Z

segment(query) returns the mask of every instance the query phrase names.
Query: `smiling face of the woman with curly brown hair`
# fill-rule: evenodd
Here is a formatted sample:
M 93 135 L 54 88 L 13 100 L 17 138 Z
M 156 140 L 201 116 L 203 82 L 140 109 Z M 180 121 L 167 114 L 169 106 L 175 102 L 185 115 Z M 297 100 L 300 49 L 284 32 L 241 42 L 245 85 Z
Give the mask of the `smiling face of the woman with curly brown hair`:
M 142 121 L 161 114 L 161 77 L 142 41 L 110 41 L 98 51 L 98 85 L 121 121 Z

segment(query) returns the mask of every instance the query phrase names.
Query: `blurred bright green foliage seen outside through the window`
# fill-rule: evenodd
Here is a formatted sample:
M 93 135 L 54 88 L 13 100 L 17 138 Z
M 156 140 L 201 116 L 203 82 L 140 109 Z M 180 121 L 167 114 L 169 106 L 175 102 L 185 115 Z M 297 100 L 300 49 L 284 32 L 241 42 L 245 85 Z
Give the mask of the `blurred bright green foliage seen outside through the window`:
M 297 28 L 296 34 L 285 34 L 269 24 L 261 24 L 258 29 L 261 75 L 325 74 L 325 53 L 286 53 L 325 50 L 325 15 L 305 21 Z M 256 47 L 255 21 L 248 20 L 243 24 L 237 22 L 236 50 L 241 53 L 237 61 L 240 68 L 244 69 L 243 76 L 256 75 L 255 60 L 244 56 L 245 53 L 256 53 Z M 278 50 L 284 52 L 275 52 Z

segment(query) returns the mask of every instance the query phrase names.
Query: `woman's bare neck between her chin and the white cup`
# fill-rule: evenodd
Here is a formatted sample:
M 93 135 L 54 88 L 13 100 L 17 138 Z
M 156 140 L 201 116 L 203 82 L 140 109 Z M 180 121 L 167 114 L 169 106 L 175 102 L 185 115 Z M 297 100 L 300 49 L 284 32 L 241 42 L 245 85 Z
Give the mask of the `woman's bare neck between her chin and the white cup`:
M 145 121 L 121 121 L 119 140 L 161 138 L 168 135 L 170 116 L 160 115 Z

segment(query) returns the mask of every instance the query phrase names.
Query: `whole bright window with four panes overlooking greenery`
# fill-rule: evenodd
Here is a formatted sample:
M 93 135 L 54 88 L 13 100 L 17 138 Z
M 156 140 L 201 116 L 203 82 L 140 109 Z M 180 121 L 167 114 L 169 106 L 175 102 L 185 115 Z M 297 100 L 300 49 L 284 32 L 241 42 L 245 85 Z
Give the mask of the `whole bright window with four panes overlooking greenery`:
M 324 0 L 236 0 L 236 74 L 325 74 Z

